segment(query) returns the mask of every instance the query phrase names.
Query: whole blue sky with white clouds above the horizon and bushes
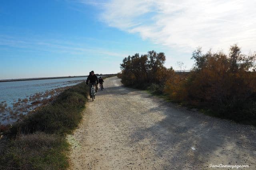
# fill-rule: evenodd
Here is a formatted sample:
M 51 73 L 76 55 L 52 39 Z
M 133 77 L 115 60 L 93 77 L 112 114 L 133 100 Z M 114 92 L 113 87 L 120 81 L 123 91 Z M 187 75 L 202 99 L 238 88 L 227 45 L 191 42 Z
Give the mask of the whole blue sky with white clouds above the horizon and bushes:
M 196 47 L 256 50 L 255 0 L 2 0 L 0 79 L 117 73 L 155 50 L 191 69 Z

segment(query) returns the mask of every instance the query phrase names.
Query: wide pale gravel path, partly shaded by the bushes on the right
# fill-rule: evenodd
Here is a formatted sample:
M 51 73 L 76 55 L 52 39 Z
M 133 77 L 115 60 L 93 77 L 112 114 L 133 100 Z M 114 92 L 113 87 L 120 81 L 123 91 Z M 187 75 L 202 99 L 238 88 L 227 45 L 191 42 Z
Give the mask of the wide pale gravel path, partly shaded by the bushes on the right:
M 124 87 L 117 77 L 104 86 L 68 136 L 70 169 L 256 169 L 256 128 Z

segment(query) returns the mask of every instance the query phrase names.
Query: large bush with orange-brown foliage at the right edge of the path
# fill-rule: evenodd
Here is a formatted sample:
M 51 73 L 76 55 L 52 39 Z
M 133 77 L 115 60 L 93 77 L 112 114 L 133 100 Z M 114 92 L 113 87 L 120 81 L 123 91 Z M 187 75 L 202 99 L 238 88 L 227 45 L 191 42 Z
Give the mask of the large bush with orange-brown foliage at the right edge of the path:
M 194 71 L 176 74 L 165 92 L 170 99 L 202 107 L 212 115 L 256 125 L 256 54 L 241 54 L 235 44 L 223 52 L 194 51 Z

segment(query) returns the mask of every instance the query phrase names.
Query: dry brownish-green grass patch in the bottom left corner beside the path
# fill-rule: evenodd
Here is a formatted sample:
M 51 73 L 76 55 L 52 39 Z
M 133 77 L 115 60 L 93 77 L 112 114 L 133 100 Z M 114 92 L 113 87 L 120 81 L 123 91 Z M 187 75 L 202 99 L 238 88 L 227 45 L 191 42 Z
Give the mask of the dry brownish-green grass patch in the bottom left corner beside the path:
M 38 132 L 0 140 L 0 169 L 66 169 L 68 143 L 61 136 Z

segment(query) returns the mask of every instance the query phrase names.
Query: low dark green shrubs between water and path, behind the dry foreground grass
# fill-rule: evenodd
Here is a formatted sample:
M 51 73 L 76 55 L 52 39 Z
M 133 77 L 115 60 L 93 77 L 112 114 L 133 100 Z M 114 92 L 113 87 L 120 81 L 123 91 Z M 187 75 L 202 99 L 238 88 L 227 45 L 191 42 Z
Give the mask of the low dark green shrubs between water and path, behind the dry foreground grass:
M 47 133 L 67 133 L 77 127 L 81 120 L 81 111 L 84 109 L 88 87 L 80 83 L 66 89 L 53 103 L 41 107 L 13 125 L 9 134 L 28 134 L 36 131 Z

